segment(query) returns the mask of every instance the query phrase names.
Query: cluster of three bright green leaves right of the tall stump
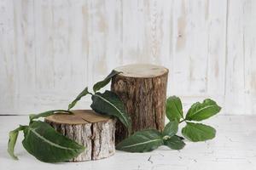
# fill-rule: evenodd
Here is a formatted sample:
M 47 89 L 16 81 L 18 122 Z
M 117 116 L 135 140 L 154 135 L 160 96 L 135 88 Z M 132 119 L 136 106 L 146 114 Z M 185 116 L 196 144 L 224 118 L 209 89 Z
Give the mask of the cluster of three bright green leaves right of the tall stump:
M 179 123 L 186 122 L 182 134 L 186 139 L 193 142 L 205 141 L 215 137 L 216 130 L 213 127 L 204 125 L 201 122 L 216 115 L 221 107 L 212 99 L 205 99 L 202 103 L 196 102 L 191 105 L 187 115 L 183 118 L 182 103 L 179 98 L 172 96 L 166 101 L 166 116 L 171 121 Z

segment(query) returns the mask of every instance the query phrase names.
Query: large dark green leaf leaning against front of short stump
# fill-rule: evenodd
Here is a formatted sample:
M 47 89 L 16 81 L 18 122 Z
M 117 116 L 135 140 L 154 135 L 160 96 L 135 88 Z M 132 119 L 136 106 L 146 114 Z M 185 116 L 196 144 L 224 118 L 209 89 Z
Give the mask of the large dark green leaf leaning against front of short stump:
M 84 146 L 57 133 L 46 122 L 32 122 L 24 130 L 24 137 L 24 148 L 40 161 L 68 161 L 84 151 Z

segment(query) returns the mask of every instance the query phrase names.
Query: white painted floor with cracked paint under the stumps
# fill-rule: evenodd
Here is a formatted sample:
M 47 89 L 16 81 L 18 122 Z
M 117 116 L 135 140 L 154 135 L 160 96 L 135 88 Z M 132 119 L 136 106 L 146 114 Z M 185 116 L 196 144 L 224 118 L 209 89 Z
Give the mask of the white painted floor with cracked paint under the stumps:
M 27 116 L 0 116 L 0 170 L 179 170 L 179 169 L 256 169 L 256 116 L 216 116 L 206 123 L 217 129 L 217 136 L 207 142 L 191 143 L 183 150 L 160 147 L 149 153 L 117 151 L 108 159 L 74 163 L 49 164 L 30 156 L 21 145 L 19 136 L 15 153 L 19 161 L 7 153 L 8 133 L 19 124 L 26 124 Z

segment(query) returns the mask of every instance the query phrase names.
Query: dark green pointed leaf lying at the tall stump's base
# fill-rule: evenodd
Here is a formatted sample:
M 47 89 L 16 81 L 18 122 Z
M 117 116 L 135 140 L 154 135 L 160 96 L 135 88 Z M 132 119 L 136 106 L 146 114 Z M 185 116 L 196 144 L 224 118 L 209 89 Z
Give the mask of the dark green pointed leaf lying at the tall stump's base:
M 117 144 L 117 150 L 128 152 L 147 152 L 163 144 L 160 132 L 155 129 L 143 130 L 132 134 L 127 139 Z

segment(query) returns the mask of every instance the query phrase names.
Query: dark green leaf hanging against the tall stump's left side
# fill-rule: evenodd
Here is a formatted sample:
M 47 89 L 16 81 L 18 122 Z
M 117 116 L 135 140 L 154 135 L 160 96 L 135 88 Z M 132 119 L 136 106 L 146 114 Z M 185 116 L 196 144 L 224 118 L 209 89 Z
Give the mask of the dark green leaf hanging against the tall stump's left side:
M 131 119 L 125 111 L 125 105 L 119 99 L 119 96 L 111 91 L 105 91 L 103 94 L 96 93 L 91 96 L 92 104 L 90 107 L 103 115 L 115 116 L 131 132 Z

